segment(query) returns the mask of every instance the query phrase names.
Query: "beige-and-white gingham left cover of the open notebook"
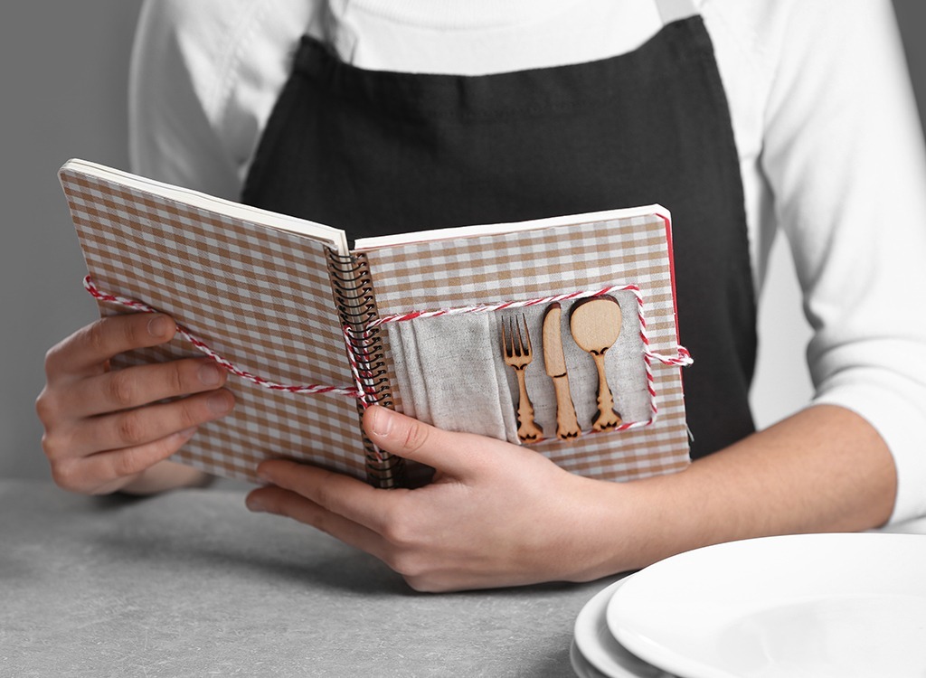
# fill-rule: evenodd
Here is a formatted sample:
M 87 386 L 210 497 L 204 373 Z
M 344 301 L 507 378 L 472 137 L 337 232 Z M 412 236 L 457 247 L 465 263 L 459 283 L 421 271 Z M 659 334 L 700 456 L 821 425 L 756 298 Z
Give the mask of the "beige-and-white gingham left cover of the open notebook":
M 237 367 L 277 383 L 354 386 L 332 300 L 327 247 L 291 232 L 166 200 L 76 170 L 60 179 L 87 269 L 109 294 L 172 316 Z M 124 313 L 101 303 L 103 314 Z M 201 357 L 182 339 L 114 367 Z M 237 377 L 231 415 L 176 455 L 221 476 L 257 480 L 286 457 L 366 477 L 357 401 L 270 391 Z

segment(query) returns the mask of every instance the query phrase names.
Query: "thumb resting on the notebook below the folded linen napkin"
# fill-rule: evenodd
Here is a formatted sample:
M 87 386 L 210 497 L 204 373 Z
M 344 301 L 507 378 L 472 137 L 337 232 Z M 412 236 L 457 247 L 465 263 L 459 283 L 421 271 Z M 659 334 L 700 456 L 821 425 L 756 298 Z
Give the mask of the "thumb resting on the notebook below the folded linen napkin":
M 457 477 L 471 473 L 482 447 L 493 442 L 481 435 L 444 431 L 379 405 L 364 412 L 363 428 L 380 449 Z

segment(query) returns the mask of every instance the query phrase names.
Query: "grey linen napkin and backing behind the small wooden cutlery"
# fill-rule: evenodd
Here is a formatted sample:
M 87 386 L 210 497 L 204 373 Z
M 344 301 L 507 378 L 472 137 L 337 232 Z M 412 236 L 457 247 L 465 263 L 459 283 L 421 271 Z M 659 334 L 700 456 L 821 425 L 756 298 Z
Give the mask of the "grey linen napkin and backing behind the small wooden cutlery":
M 637 301 L 631 293 L 615 295 L 622 313 L 618 340 L 606 353 L 607 381 L 615 409 L 625 424 L 653 421 L 653 397 L 644 360 Z M 594 359 L 569 334 L 569 311 L 562 304 L 561 337 L 569 386 L 583 432 L 591 431 L 597 411 L 598 375 Z M 544 369 L 544 305 L 484 313 L 417 318 L 385 325 L 392 348 L 394 376 L 402 409 L 419 421 L 448 431 L 480 433 L 520 444 L 519 388 L 504 361 L 502 324 L 528 328 L 532 361 L 524 371 L 534 421 L 544 440 L 556 438 L 557 398 Z M 527 338 L 523 338 L 527 343 Z

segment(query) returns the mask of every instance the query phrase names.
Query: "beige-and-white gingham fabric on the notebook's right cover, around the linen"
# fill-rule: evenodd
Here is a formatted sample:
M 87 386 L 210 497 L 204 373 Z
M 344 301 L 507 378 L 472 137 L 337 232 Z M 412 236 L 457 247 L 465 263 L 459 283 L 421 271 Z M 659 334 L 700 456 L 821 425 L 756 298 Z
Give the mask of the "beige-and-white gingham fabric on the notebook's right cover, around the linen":
M 651 350 L 675 355 L 678 340 L 667 232 L 665 220 L 654 214 L 384 247 L 366 256 L 381 315 L 636 284 L 645 301 Z M 388 352 L 388 337 L 385 342 Z M 543 371 L 542 363 L 529 369 L 534 367 Z M 681 370 L 655 361 L 652 368 L 658 409 L 652 424 L 624 432 L 583 434 L 569 443 L 554 438 L 532 448 L 569 471 L 611 480 L 682 470 L 689 458 Z M 391 382 L 396 383 L 394 375 Z M 509 386 L 517 402 L 513 376 Z M 394 394 L 394 399 L 401 409 L 401 394 Z

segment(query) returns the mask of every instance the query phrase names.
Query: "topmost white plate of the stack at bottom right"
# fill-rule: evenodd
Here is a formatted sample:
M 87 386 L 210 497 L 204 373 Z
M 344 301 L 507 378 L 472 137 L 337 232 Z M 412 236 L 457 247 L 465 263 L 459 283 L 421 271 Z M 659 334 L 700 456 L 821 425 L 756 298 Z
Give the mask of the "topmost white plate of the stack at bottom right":
M 922 678 L 926 536 L 707 546 L 634 574 L 606 616 L 624 647 L 684 678 Z

